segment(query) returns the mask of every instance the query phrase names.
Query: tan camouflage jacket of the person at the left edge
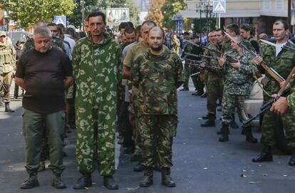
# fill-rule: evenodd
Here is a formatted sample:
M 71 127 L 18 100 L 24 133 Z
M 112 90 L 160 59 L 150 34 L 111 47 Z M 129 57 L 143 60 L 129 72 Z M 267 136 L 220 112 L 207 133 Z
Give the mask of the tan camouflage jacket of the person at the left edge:
M 16 68 L 16 50 L 11 45 L 0 43 L 0 74 L 9 73 Z

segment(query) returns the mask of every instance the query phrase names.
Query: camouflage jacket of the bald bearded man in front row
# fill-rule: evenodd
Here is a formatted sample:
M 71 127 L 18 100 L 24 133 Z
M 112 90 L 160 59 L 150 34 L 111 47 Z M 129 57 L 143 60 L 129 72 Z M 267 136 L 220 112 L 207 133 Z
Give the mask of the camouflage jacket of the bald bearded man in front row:
M 131 78 L 138 88 L 138 113 L 177 115 L 177 88 L 182 85 L 182 63 L 176 53 L 164 50 L 160 56 L 150 51 L 133 63 Z

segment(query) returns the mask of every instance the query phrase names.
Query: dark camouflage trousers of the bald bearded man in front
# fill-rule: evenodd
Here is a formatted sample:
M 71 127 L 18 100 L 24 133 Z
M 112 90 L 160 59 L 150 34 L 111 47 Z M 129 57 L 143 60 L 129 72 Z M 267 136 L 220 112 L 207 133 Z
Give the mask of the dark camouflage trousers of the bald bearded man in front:
M 145 167 L 172 167 L 172 139 L 177 127 L 176 115 L 140 115 L 142 164 Z

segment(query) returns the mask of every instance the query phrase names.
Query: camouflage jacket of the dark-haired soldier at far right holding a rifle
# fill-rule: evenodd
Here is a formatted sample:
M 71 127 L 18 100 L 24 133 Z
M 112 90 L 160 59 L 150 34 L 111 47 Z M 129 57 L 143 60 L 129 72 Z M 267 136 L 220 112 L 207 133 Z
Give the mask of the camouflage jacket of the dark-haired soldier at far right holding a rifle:
M 295 44 L 291 42 L 287 42 L 286 46 L 290 46 L 295 48 Z M 294 51 L 286 51 L 284 49 L 281 50 L 278 56 L 276 56 L 276 48 L 274 46 L 267 45 L 264 47 L 261 56 L 263 60 L 274 68 L 274 71 L 279 73 L 283 78 L 287 78 L 289 73 L 291 72 L 292 68 L 295 65 L 295 52 Z M 259 68 L 260 69 L 260 68 Z M 265 73 L 263 69 L 261 69 L 262 73 Z M 264 89 L 269 92 L 270 94 L 277 93 L 279 91 L 279 83 L 271 78 L 268 73 L 265 73 L 266 78 L 262 80 L 264 85 Z M 294 79 L 290 81 L 291 86 L 294 85 Z

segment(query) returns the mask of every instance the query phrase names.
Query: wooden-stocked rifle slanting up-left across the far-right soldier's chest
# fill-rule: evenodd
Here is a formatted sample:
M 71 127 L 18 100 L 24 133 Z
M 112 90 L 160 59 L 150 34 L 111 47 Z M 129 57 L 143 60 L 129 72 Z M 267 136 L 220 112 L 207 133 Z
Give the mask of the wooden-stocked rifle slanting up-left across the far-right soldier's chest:
M 244 44 L 242 41 L 237 41 L 236 39 L 232 38 L 232 36 L 229 35 L 229 33 L 225 32 L 225 35 L 227 35 L 232 41 L 234 41 L 234 43 L 237 43 L 237 45 L 240 48 L 243 48 L 245 51 L 247 51 L 248 53 L 250 53 L 253 57 L 255 56 L 259 56 L 257 53 L 254 53 L 253 51 L 250 51 Z M 271 68 L 271 66 L 269 66 L 267 63 L 265 63 L 264 61 L 262 61 L 261 63 L 262 68 L 264 68 L 264 70 L 269 73 L 269 75 L 271 75 L 272 78 L 274 78 L 274 80 L 276 80 L 278 83 L 284 82 L 285 79 L 283 77 L 281 77 L 281 75 L 279 75 L 279 73 L 277 73 L 276 71 L 274 71 L 274 68 Z

